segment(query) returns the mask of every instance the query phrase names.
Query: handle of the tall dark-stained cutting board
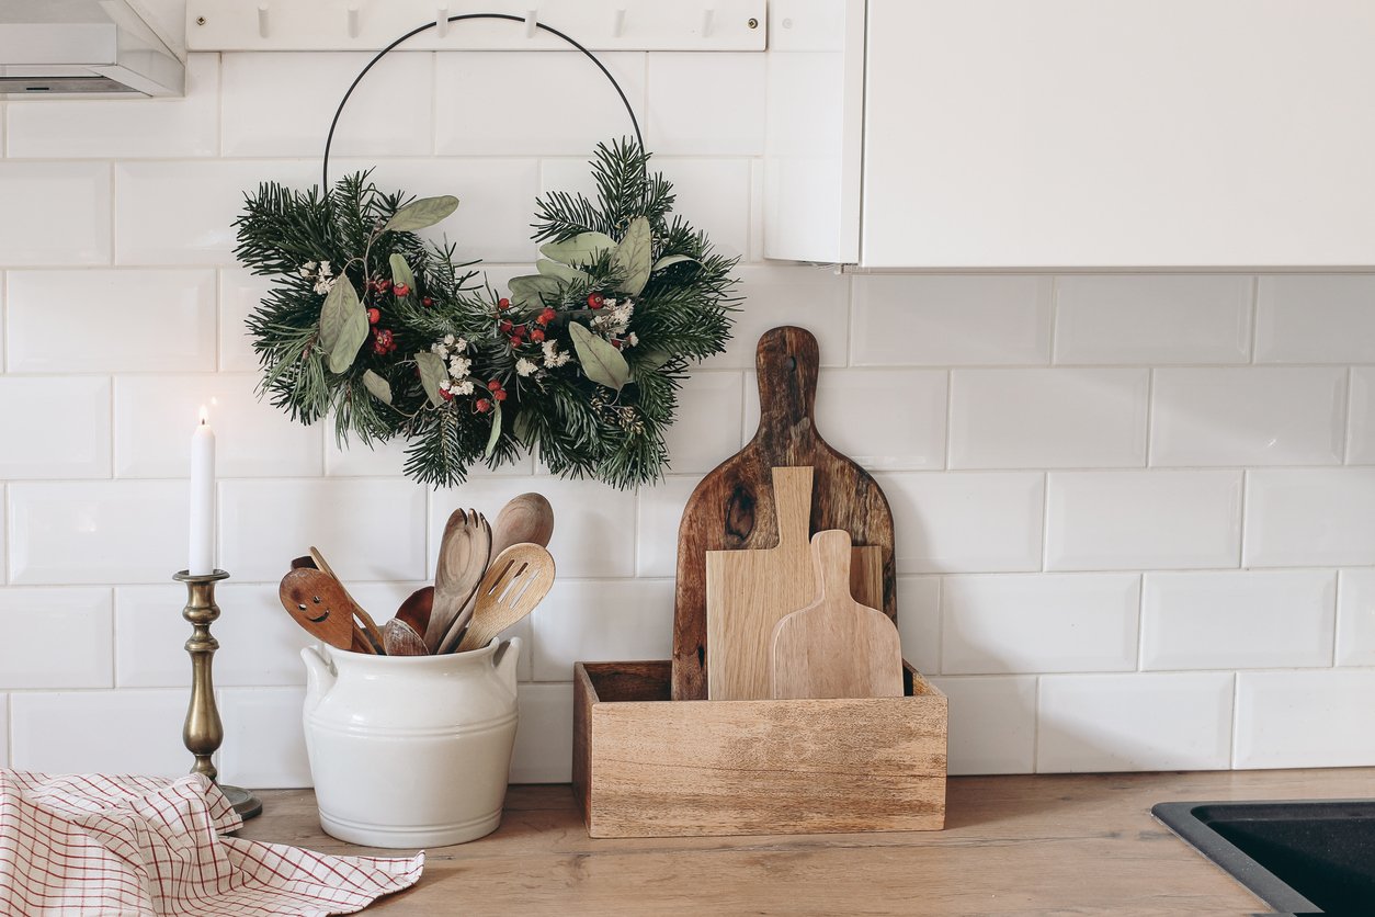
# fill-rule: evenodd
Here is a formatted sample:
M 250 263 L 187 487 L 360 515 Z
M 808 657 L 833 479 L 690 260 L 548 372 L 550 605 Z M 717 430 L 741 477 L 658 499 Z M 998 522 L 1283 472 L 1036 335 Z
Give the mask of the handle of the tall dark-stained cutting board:
M 759 370 L 756 440 L 782 444 L 814 433 L 820 360 L 817 338 L 806 329 L 786 324 L 759 338 L 755 349 Z

